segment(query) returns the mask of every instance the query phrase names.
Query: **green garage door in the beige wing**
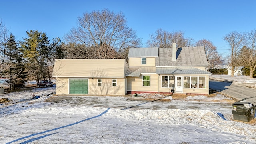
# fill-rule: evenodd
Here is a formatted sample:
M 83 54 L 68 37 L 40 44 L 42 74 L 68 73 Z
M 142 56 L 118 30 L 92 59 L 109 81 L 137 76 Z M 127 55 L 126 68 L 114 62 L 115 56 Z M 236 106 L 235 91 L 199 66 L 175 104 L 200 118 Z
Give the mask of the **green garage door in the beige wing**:
M 69 79 L 70 94 L 88 94 L 88 79 L 87 78 L 70 78 Z

